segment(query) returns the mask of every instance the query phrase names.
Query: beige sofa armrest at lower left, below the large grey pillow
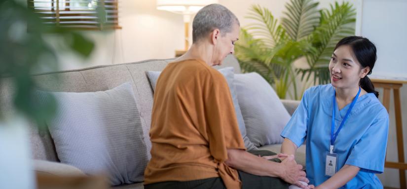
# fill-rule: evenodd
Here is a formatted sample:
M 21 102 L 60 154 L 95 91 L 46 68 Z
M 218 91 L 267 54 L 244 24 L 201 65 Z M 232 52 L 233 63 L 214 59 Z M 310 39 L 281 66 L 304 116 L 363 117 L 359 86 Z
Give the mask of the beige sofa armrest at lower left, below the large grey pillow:
M 86 176 L 86 174 L 78 168 L 60 162 L 34 159 L 33 164 L 36 173 L 54 176 Z

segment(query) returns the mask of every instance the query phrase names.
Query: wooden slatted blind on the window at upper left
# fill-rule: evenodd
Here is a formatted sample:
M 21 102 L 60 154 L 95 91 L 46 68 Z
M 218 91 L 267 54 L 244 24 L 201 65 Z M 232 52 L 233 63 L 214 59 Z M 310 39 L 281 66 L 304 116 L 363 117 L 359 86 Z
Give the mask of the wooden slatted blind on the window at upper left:
M 118 0 L 28 0 L 46 26 L 77 29 L 120 29 Z

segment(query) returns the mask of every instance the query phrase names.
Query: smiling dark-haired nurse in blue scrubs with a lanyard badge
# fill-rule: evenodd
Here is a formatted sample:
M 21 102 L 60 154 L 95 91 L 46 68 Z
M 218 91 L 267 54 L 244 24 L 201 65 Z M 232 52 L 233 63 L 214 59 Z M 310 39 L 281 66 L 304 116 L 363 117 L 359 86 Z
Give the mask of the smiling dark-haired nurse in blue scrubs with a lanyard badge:
M 307 178 L 317 189 L 383 188 L 374 174 L 384 170 L 389 115 L 367 76 L 375 61 L 369 39 L 341 39 L 331 84 L 307 89 L 281 133 L 281 153 L 295 154 L 306 141 Z

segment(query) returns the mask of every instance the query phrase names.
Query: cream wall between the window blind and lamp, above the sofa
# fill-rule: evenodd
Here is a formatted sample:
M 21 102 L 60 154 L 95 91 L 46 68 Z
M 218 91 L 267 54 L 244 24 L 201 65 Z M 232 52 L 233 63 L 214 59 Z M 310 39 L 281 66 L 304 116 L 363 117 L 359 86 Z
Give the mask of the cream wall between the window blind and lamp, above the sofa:
M 182 15 L 157 10 L 155 0 L 120 0 L 119 10 L 122 29 L 83 32 L 94 39 L 94 52 L 86 60 L 72 53 L 58 52 L 60 70 L 171 58 L 175 49 L 184 48 Z

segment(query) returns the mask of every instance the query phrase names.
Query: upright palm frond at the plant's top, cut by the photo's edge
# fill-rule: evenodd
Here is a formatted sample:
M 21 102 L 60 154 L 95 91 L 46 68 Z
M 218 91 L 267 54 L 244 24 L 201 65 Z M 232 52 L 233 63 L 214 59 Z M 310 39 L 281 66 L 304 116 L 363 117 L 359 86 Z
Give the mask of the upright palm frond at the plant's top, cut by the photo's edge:
M 287 11 L 283 12 L 281 25 L 292 40 L 306 38 L 319 25 L 317 6 L 318 2 L 313 0 L 290 0 L 285 5 Z

